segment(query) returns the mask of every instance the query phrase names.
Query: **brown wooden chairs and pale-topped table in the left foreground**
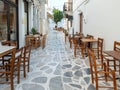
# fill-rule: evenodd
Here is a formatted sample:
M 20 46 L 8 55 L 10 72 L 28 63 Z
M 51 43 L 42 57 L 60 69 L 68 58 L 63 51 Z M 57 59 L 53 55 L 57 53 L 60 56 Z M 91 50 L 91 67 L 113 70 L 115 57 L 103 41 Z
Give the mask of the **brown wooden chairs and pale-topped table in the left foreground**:
M 21 68 L 26 78 L 26 71 L 30 67 L 31 45 L 25 45 L 17 49 L 13 41 L 6 41 L 0 45 L 0 84 L 10 84 L 10 90 L 14 90 L 14 78 L 17 83 L 21 81 Z

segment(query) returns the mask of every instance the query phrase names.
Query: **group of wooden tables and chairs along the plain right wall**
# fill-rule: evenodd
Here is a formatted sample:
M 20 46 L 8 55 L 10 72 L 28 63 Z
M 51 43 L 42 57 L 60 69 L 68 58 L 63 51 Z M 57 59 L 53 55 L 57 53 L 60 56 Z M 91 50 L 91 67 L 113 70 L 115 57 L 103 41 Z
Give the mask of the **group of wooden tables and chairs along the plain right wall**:
M 76 58 L 77 49 L 81 52 L 82 58 L 89 57 L 90 72 L 92 83 L 96 84 L 96 90 L 99 88 L 117 89 L 117 79 L 120 79 L 120 42 L 114 41 L 113 50 L 103 50 L 104 39 L 94 38 L 92 35 L 85 37 L 75 34 L 72 39 L 69 37 L 69 44 L 74 45 L 74 57 Z M 98 63 L 98 64 L 97 64 Z M 100 68 L 101 66 L 101 68 Z M 101 70 L 97 70 L 97 68 Z M 98 75 L 101 74 L 101 75 Z M 99 86 L 99 76 L 104 76 L 105 82 L 108 82 L 108 76 L 112 79 L 111 86 Z

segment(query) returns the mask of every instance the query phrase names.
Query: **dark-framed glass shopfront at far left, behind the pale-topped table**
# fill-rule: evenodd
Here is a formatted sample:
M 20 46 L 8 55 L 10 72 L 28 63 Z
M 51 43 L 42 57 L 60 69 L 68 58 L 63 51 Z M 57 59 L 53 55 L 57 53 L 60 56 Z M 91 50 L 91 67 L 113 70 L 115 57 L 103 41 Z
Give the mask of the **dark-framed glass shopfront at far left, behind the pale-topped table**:
M 14 2 L 13 2 L 14 1 Z M 0 1 L 0 41 L 18 41 L 17 2 L 15 0 Z

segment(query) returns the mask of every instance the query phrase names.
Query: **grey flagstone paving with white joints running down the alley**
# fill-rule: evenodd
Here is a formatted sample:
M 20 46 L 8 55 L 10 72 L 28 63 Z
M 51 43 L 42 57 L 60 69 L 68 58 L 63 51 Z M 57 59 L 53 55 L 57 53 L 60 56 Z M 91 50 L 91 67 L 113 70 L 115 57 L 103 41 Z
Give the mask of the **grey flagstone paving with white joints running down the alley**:
M 51 30 L 45 49 L 32 50 L 30 70 L 26 79 L 21 73 L 21 82 L 15 82 L 15 90 L 95 90 L 88 58 L 82 59 L 79 51 L 74 58 L 62 32 Z M 0 85 L 0 90 L 10 90 L 10 86 Z

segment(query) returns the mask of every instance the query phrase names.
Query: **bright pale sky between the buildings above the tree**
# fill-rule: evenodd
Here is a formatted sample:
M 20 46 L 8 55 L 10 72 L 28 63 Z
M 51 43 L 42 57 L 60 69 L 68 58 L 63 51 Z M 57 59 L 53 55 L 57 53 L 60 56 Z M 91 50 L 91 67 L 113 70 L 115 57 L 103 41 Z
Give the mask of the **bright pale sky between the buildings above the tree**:
M 63 5 L 65 0 L 48 0 L 48 6 L 53 9 L 53 7 L 63 11 Z

